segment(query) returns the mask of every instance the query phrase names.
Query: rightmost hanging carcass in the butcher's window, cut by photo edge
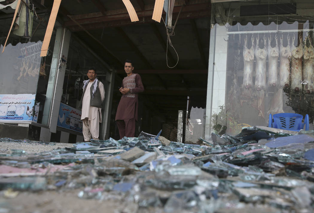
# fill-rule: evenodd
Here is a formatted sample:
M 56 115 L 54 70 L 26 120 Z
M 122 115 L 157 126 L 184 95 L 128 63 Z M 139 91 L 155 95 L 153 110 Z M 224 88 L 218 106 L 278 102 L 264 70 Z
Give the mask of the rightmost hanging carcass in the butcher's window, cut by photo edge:
M 309 47 L 307 42 L 309 41 Z M 303 79 L 304 90 L 306 93 L 314 92 L 314 49 L 311 44 L 311 39 L 306 37 L 304 48 L 303 48 Z

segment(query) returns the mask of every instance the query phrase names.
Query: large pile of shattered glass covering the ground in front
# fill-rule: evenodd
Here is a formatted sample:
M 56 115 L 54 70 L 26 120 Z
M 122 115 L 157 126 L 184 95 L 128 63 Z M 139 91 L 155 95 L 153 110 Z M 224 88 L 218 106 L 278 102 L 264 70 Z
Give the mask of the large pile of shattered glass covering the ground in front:
M 200 140 L 142 132 L 37 154 L 11 150 L 0 156 L 0 188 L 81 189 L 79 198 L 129 203 L 127 212 L 313 212 L 314 131 L 257 126 Z

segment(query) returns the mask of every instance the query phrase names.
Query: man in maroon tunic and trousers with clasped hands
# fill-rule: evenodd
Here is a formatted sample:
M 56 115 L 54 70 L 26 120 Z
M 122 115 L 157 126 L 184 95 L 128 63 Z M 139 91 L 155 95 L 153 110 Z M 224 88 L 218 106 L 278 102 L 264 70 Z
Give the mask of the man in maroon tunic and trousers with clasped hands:
M 120 139 L 124 136 L 134 137 L 135 121 L 138 119 L 138 93 L 144 91 L 141 76 L 133 73 L 133 69 L 132 61 L 127 59 L 124 64 L 127 77 L 123 79 L 119 89 L 122 97 L 116 112 Z

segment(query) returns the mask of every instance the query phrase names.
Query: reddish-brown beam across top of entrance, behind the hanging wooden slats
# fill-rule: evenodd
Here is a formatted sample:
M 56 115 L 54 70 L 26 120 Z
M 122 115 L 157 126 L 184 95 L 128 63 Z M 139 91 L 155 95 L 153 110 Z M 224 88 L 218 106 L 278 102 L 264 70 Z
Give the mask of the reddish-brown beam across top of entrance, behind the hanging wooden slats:
M 189 4 L 182 9 L 181 14 L 190 13 L 190 12 L 200 12 L 200 11 L 207 11 L 208 12 L 209 8 L 210 8 L 209 3 Z M 181 6 L 174 7 L 172 14 L 178 14 L 180 9 L 181 9 Z M 123 12 L 124 13 L 113 14 L 113 15 L 102 15 L 102 16 L 98 16 L 98 17 L 91 17 L 91 15 L 93 15 L 95 13 L 93 13 L 93 14 L 81 14 L 79 16 L 78 15 L 73 16 L 73 19 L 76 19 L 77 22 L 81 25 L 106 22 L 106 21 L 124 20 L 124 19 L 129 20 L 130 19 L 129 14 L 125 11 L 123 11 Z M 108 13 L 109 13 L 109 11 L 107 11 L 107 14 Z M 144 18 L 144 17 L 151 17 L 152 14 L 153 14 L 153 9 L 137 12 L 139 19 Z M 165 11 L 163 11 L 163 14 L 165 14 Z M 69 20 L 69 21 L 66 21 L 64 23 L 64 25 L 66 27 L 69 27 L 69 26 L 75 26 L 76 23 L 73 20 Z

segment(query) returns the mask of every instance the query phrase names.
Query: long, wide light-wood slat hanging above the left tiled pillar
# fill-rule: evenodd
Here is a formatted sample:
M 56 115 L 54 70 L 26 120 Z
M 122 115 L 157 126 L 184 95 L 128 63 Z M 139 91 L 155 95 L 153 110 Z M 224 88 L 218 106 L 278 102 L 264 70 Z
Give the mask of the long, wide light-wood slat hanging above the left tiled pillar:
M 44 41 L 42 42 L 42 46 L 41 46 L 41 55 L 40 55 L 41 57 L 47 56 L 48 47 L 49 47 L 53 27 L 55 26 L 60 4 L 61 4 L 61 0 L 53 1 L 53 6 L 52 6 L 49 21 L 48 21 L 46 34 L 45 34 Z

